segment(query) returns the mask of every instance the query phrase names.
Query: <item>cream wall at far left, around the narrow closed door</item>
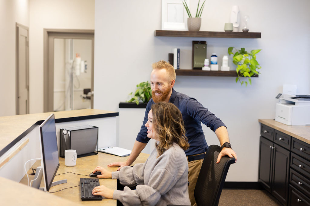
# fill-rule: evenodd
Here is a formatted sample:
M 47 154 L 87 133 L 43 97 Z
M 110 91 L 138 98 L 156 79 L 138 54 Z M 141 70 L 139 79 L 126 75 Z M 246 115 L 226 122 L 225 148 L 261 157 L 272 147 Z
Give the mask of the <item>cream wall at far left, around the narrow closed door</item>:
M 0 116 L 15 115 L 16 22 L 29 27 L 29 0 L 1 0 Z

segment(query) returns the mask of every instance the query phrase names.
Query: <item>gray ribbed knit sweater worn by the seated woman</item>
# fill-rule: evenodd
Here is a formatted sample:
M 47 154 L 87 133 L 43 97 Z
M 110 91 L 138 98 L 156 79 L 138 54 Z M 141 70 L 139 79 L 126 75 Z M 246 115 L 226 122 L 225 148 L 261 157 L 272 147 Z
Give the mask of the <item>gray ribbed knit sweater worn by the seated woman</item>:
M 122 167 L 112 172 L 112 179 L 119 179 L 128 187 L 115 190 L 113 199 L 124 205 L 191 205 L 188 197 L 188 163 L 184 150 L 173 145 L 157 157 L 156 148 L 144 163 Z M 135 186 L 136 190 L 129 187 Z

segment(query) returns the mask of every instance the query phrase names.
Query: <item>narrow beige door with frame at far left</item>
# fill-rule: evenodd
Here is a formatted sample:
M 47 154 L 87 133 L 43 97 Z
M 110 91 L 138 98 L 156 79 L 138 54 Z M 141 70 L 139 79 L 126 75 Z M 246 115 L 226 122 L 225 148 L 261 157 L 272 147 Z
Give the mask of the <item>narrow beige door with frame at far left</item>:
M 29 114 L 28 27 L 16 23 L 16 115 Z

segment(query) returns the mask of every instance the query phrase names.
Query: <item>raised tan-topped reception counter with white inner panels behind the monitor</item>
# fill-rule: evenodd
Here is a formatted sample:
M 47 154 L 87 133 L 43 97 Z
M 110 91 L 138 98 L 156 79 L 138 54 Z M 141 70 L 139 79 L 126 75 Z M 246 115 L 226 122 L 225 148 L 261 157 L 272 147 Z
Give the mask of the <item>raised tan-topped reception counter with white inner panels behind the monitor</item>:
M 19 182 L 25 174 L 27 160 L 41 158 L 39 125 L 52 113 L 55 114 L 59 151 L 60 128 L 98 126 L 99 147 L 116 145 L 116 117 L 118 112 L 98 109 L 46 112 L 0 117 L 0 176 Z M 34 162 L 26 164 L 28 170 Z M 15 168 L 12 170 L 12 168 Z

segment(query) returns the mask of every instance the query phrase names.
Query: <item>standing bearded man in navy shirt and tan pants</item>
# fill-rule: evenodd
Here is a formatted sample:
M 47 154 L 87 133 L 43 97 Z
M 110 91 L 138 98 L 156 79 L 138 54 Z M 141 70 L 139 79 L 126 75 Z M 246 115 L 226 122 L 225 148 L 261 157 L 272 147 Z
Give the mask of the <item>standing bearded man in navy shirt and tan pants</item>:
M 225 155 L 229 157 L 233 156 L 237 161 L 237 154 L 231 149 L 225 124 L 207 108 L 203 107 L 196 99 L 176 92 L 173 89 L 175 84 L 174 67 L 163 60 L 153 63 L 152 67 L 151 89 L 153 98 L 146 106 L 143 125 L 138 133 L 132 152 L 126 162 L 113 162 L 108 167 L 120 166 L 122 168 L 123 166 L 130 166 L 150 140 L 147 137 L 148 131 L 144 124 L 148 121 L 148 112 L 151 109 L 151 105 L 157 102 L 173 103 L 182 113 L 186 130 L 185 135 L 190 144 L 185 153 L 188 158 L 188 193 L 191 204 L 193 205 L 196 203 L 194 198 L 195 185 L 203 158 L 205 157 L 206 148 L 208 147 L 202 131 L 201 122 L 215 132 L 220 145 L 222 145 L 222 151 L 219 153 L 217 163 Z M 117 168 L 117 170 L 120 168 Z

